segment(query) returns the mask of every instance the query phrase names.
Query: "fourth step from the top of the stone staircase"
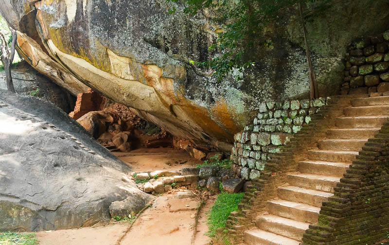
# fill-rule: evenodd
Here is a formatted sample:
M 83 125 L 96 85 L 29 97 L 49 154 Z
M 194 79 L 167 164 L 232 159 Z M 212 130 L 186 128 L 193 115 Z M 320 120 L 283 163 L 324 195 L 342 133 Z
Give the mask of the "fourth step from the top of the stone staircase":
M 380 128 L 342 128 L 328 129 L 329 139 L 369 139 L 378 133 Z

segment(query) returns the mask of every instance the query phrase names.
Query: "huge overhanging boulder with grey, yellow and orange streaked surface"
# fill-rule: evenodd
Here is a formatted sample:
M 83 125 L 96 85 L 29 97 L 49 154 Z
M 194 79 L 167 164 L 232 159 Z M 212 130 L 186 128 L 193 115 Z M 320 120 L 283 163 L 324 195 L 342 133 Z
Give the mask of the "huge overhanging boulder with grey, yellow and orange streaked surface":
M 218 55 L 208 46 L 220 26 L 207 11 L 187 17 L 168 14 L 171 7 L 165 0 L 4 0 L 0 13 L 18 30 L 20 55 L 54 82 L 74 94 L 88 85 L 195 143 L 228 149 L 262 102 L 308 97 L 297 10 L 258 34 L 256 65 L 242 81 L 216 81 L 190 60 Z M 337 1 L 306 23 L 320 96 L 343 83 L 348 43 L 388 29 L 388 10 L 387 0 Z

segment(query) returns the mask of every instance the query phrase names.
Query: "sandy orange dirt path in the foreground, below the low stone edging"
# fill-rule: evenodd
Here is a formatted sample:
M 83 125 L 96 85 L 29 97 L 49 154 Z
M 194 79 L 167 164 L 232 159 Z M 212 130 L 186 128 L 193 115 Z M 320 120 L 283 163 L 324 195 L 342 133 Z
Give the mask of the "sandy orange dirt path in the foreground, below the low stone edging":
M 208 231 L 206 213 L 214 197 L 198 213 L 195 232 L 195 215 L 202 200 L 175 198 L 176 193 L 159 196 L 132 226 L 128 221 L 115 222 L 104 227 L 41 231 L 36 237 L 39 245 L 209 245 L 211 239 L 204 235 Z

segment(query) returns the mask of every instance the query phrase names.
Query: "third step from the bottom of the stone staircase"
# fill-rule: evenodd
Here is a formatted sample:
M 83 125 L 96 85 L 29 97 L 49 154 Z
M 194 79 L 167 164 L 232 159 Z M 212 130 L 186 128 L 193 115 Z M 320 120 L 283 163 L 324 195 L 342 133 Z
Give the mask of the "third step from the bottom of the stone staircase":
M 270 214 L 284 218 L 301 222 L 317 223 L 320 208 L 303 203 L 273 199 L 267 201 L 267 210 Z

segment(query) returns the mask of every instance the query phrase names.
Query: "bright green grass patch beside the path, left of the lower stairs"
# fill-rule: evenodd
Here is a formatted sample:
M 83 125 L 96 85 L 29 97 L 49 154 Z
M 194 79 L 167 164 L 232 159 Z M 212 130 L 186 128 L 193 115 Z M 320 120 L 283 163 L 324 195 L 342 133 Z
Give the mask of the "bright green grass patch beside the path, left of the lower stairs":
M 217 196 L 215 203 L 208 215 L 208 232 L 210 237 L 214 237 L 216 229 L 224 227 L 228 216 L 232 211 L 238 210 L 238 204 L 245 193 L 221 193 Z

